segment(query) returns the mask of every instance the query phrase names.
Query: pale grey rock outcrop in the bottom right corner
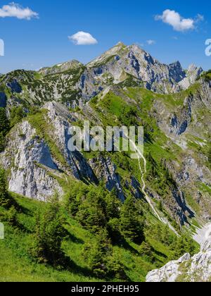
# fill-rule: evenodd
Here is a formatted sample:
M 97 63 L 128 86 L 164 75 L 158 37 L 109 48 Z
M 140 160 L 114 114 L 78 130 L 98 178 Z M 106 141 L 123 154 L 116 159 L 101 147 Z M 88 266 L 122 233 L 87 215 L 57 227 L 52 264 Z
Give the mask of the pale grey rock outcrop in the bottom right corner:
M 151 271 L 146 282 L 210 282 L 211 280 L 211 230 L 208 228 L 200 252 L 191 258 L 185 254 L 162 269 Z

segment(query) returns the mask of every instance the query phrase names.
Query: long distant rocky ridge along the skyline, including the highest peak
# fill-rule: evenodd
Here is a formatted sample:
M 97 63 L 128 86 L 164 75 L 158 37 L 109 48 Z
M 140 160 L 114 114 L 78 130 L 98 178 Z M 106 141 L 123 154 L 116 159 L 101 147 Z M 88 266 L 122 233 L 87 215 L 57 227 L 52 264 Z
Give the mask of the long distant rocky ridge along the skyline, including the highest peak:
M 20 78 L 15 79 L 23 80 L 23 84 L 26 82 L 26 96 L 33 97 L 35 101 L 40 101 L 43 92 L 51 99 L 76 106 L 112 85 L 133 83 L 153 92 L 167 94 L 186 90 L 203 73 L 203 69 L 196 66 L 189 69 L 183 70 L 179 61 L 162 64 L 136 44 L 127 47 L 121 43 L 87 65 L 73 60 L 42 68 L 38 72 L 19 70 Z M 4 80 L 11 80 L 12 83 L 15 73 L 17 70 L 4 75 L 1 84 Z M 26 81 L 24 76 L 27 76 Z M 34 82 L 29 84 L 28 81 L 32 80 Z M 13 85 L 18 86 L 15 82 Z

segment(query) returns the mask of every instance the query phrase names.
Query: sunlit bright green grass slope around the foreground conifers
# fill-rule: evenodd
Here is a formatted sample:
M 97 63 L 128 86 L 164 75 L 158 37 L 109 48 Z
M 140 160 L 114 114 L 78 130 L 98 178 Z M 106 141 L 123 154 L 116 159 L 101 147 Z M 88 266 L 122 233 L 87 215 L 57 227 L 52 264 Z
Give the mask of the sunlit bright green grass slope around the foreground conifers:
M 37 264 L 29 255 L 34 231 L 34 215 L 44 211 L 46 204 L 36 202 L 25 197 L 13 195 L 21 211 L 18 213 L 18 228 L 5 223 L 5 239 L 0 240 L 0 281 L 98 281 L 91 276 L 91 271 L 84 261 L 82 253 L 84 243 L 93 242 L 94 235 L 84 230 L 79 223 L 66 215 L 66 226 L 69 238 L 63 242 L 65 254 L 72 259 L 69 270 L 57 270 L 52 266 Z M 1 208 L 1 214 L 6 211 Z M 170 248 L 156 241 L 150 235 L 147 236 L 155 257 L 154 264 L 141 252 L 140 245 L 127 241 L 126 245 L 115 245 L 114 252 L 120 257 L 124 265 L 124 271 L 132 281 L 144 281 L 148 271 L 165 264 L 172 256 Z M 117 280 L 110 278 L 107 280 Z

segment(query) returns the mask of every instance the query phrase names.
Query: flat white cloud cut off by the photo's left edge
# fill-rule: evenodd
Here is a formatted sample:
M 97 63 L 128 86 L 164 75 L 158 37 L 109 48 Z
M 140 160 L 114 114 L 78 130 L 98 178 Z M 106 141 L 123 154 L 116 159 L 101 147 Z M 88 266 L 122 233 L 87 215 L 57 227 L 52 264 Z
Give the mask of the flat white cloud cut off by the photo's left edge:
M 38 18 L 38 16 L 39 14 L 32 11 L 30 8 L 23 8 L 14 2 L 0 8 L 0 18 L 13 17 L 20 20 L 30 20 L 31 18 Z

